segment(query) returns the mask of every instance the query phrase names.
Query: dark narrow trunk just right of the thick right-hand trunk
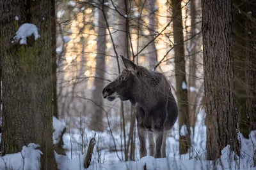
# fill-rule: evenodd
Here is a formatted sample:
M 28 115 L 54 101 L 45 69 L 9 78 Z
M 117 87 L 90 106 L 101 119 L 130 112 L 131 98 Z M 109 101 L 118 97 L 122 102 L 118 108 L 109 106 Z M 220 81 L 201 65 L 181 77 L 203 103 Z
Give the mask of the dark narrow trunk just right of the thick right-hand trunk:
M 235 85 L 235 97 L 237 104 L 239 129 L 244 138 L 249 138 L 250 134 L 250 120 L 248 120 L 248 114 L 246 111 L 246 16 L 244 15 L 245 4 L 241 3 L 241 0 L 234 1 L 234 6 L 237 4 L 243 4 L 239 6 L 239 10 L 234 9 L 234 85 Z

